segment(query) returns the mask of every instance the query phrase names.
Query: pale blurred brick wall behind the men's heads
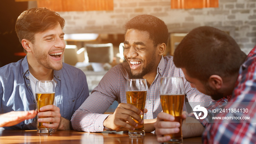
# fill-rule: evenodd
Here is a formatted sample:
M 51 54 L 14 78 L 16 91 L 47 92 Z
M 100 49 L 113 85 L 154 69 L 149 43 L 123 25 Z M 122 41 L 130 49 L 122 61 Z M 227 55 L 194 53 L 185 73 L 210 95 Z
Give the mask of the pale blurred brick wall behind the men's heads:
M 170 0 L 114 0 L 113 11 L 59 12 L 64 33 L 123 33 L 123 25 L 140 14 L 162 19 L 169 32 L 198 26 L 230 31 L 247 54 L 256 45 L 256 0 L 219 0 L 219 8 L 170 9 Z

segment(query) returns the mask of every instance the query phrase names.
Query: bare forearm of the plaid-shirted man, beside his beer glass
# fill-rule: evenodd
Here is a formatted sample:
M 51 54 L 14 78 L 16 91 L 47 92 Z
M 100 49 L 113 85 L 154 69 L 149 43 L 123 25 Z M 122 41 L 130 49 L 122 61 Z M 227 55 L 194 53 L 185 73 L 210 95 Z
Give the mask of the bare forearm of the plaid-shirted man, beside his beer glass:
M 204 126 L 192 117 L 187 117 L 182 122 L 182 135 L 184 138 L 202 136 L 204 129 Z

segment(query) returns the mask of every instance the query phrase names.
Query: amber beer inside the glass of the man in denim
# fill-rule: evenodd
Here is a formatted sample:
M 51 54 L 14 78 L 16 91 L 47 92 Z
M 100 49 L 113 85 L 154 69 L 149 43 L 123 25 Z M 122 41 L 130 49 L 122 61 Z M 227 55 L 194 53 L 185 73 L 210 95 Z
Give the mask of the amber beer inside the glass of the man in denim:
M 46 105 L 53 105 L 54 102 L 54 97 L 55 97 L 55 92 L 53 93 L 44 93 L 44 94 L 36 94 L 36 99 L 37 99 L 37 109 L 38 112 L 40 113 L 40 108 Z M 38 118 L 45 118 L 45 117 L 38 117 Z M 44 123 L 48 123 L 49 122 L 44 122 Z M 41 128 L 45 128 L 45 126 L 43 126 L 43 122 L 38 122 L 38 129 Z

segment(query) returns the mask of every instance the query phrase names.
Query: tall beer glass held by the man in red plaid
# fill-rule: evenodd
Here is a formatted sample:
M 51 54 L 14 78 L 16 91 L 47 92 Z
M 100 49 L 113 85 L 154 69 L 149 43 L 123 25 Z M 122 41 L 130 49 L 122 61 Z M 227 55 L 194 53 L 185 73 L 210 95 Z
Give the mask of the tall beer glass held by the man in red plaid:
M 165 143 L 183 143 L 181 132 L 181 114 L 184 104 L 185 92 L 182 77 L 162 77 L 160 81 L 160 98 L 163 112 L 173 115 L 180 122 L 180 131 L 168 134 L 171 139 Z

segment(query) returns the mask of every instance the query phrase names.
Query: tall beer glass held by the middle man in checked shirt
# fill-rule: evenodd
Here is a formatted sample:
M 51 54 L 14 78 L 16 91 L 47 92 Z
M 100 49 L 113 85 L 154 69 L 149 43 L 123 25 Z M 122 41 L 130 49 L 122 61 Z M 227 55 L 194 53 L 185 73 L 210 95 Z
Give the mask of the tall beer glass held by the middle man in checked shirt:
M 140 117 L 144 118 L 144 108 L 147 98 L 147 82 L 146 79 L 128 79 L 126 83 L 126 99 L 127 103 L 140 109 L 143 114 Z M 132 118 L 133 119 L 133 118 Z M 129 130 L 130 137 L 142 137 L 145 136 L 144 124 L 140 124 L 133 119 L 138 126 L 135 130 Z

